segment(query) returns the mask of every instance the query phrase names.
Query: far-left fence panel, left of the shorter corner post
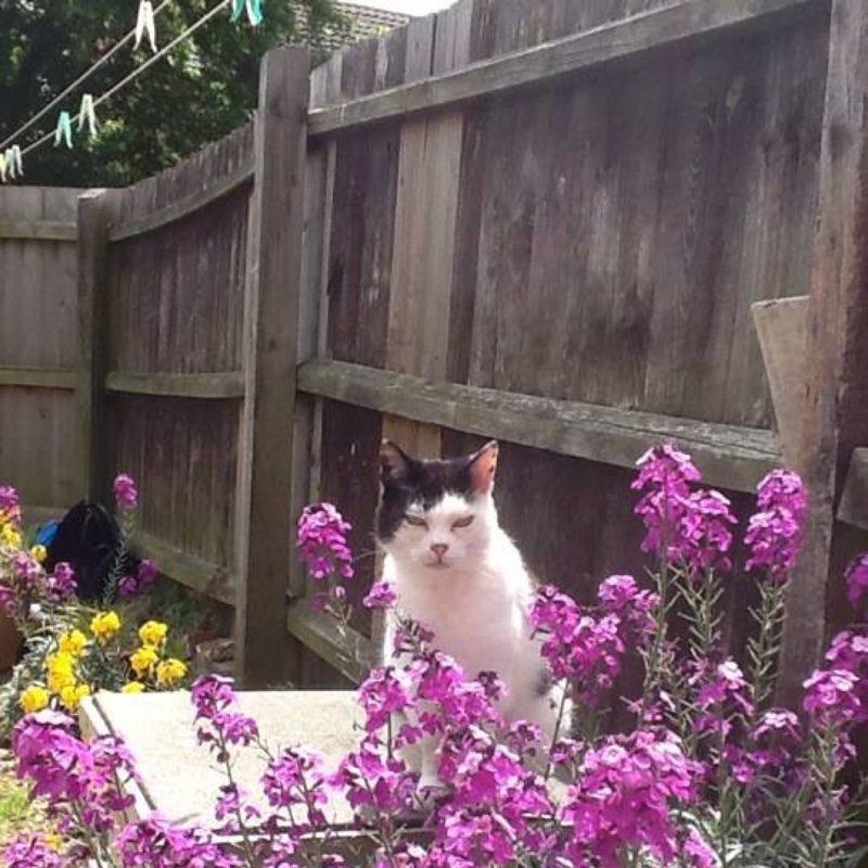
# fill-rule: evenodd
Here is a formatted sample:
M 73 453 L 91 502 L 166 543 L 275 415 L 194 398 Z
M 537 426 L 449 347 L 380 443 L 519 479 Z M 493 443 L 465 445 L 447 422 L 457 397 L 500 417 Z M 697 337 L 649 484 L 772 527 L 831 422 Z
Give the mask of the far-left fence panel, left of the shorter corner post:
M 0 478 L 41 510 L 80 485 L 76 206 L 80 190 L 0 190 Z

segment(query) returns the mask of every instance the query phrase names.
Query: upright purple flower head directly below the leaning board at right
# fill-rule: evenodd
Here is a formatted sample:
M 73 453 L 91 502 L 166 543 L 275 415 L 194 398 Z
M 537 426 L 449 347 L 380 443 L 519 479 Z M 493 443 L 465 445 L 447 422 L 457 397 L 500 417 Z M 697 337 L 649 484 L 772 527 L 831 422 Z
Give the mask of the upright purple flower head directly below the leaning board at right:
M 795 566 L 802 542 L 807 497 L 801 478 L 773 470 L 757 486 L 760 510 L 751 516 L 744 541 L 751 549 L 749 570 L 764 569 L 771 582 L 784 583 Z

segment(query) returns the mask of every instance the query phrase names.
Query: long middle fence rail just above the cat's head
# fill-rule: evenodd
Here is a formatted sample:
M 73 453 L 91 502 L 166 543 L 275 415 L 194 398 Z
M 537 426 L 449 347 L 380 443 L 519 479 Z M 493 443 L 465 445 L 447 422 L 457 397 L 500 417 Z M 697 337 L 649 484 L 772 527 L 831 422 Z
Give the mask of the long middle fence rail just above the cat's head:
M 623 468 L 673 442 L 689 451 L 713 485 L 751 492 L 779 464 L 771 432 L 560 401 L 336 361 L 298 370 L 298 388 L 418 422 L 547 449 Z

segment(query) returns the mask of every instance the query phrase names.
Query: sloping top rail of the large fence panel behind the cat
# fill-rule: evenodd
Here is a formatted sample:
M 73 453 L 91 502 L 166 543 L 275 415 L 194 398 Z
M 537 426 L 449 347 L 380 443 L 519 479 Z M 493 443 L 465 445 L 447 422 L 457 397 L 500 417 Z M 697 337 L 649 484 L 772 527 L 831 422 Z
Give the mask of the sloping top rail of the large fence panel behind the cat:
M 459 72 L 393 88 L 310 113 L 311 138 L 551 84 L 565 75 L 636 62 L 650 51 L 695 46 L 745 27 L 777 26 L 817 9 L 820 0 L 688 0 L 544 46 L 472 64 Z

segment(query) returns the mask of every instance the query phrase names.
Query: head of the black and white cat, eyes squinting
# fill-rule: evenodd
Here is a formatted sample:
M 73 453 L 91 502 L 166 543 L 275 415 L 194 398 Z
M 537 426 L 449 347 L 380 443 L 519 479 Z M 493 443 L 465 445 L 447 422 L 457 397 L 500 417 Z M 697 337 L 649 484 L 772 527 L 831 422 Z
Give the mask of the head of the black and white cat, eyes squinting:
M 497 444 L 446 461 L 418 461 L 386 441 L 380 454 L 383 497 L 376 537 L 405 567 L 444 578 L 478 563 L 497 513 L 492 499 Z

